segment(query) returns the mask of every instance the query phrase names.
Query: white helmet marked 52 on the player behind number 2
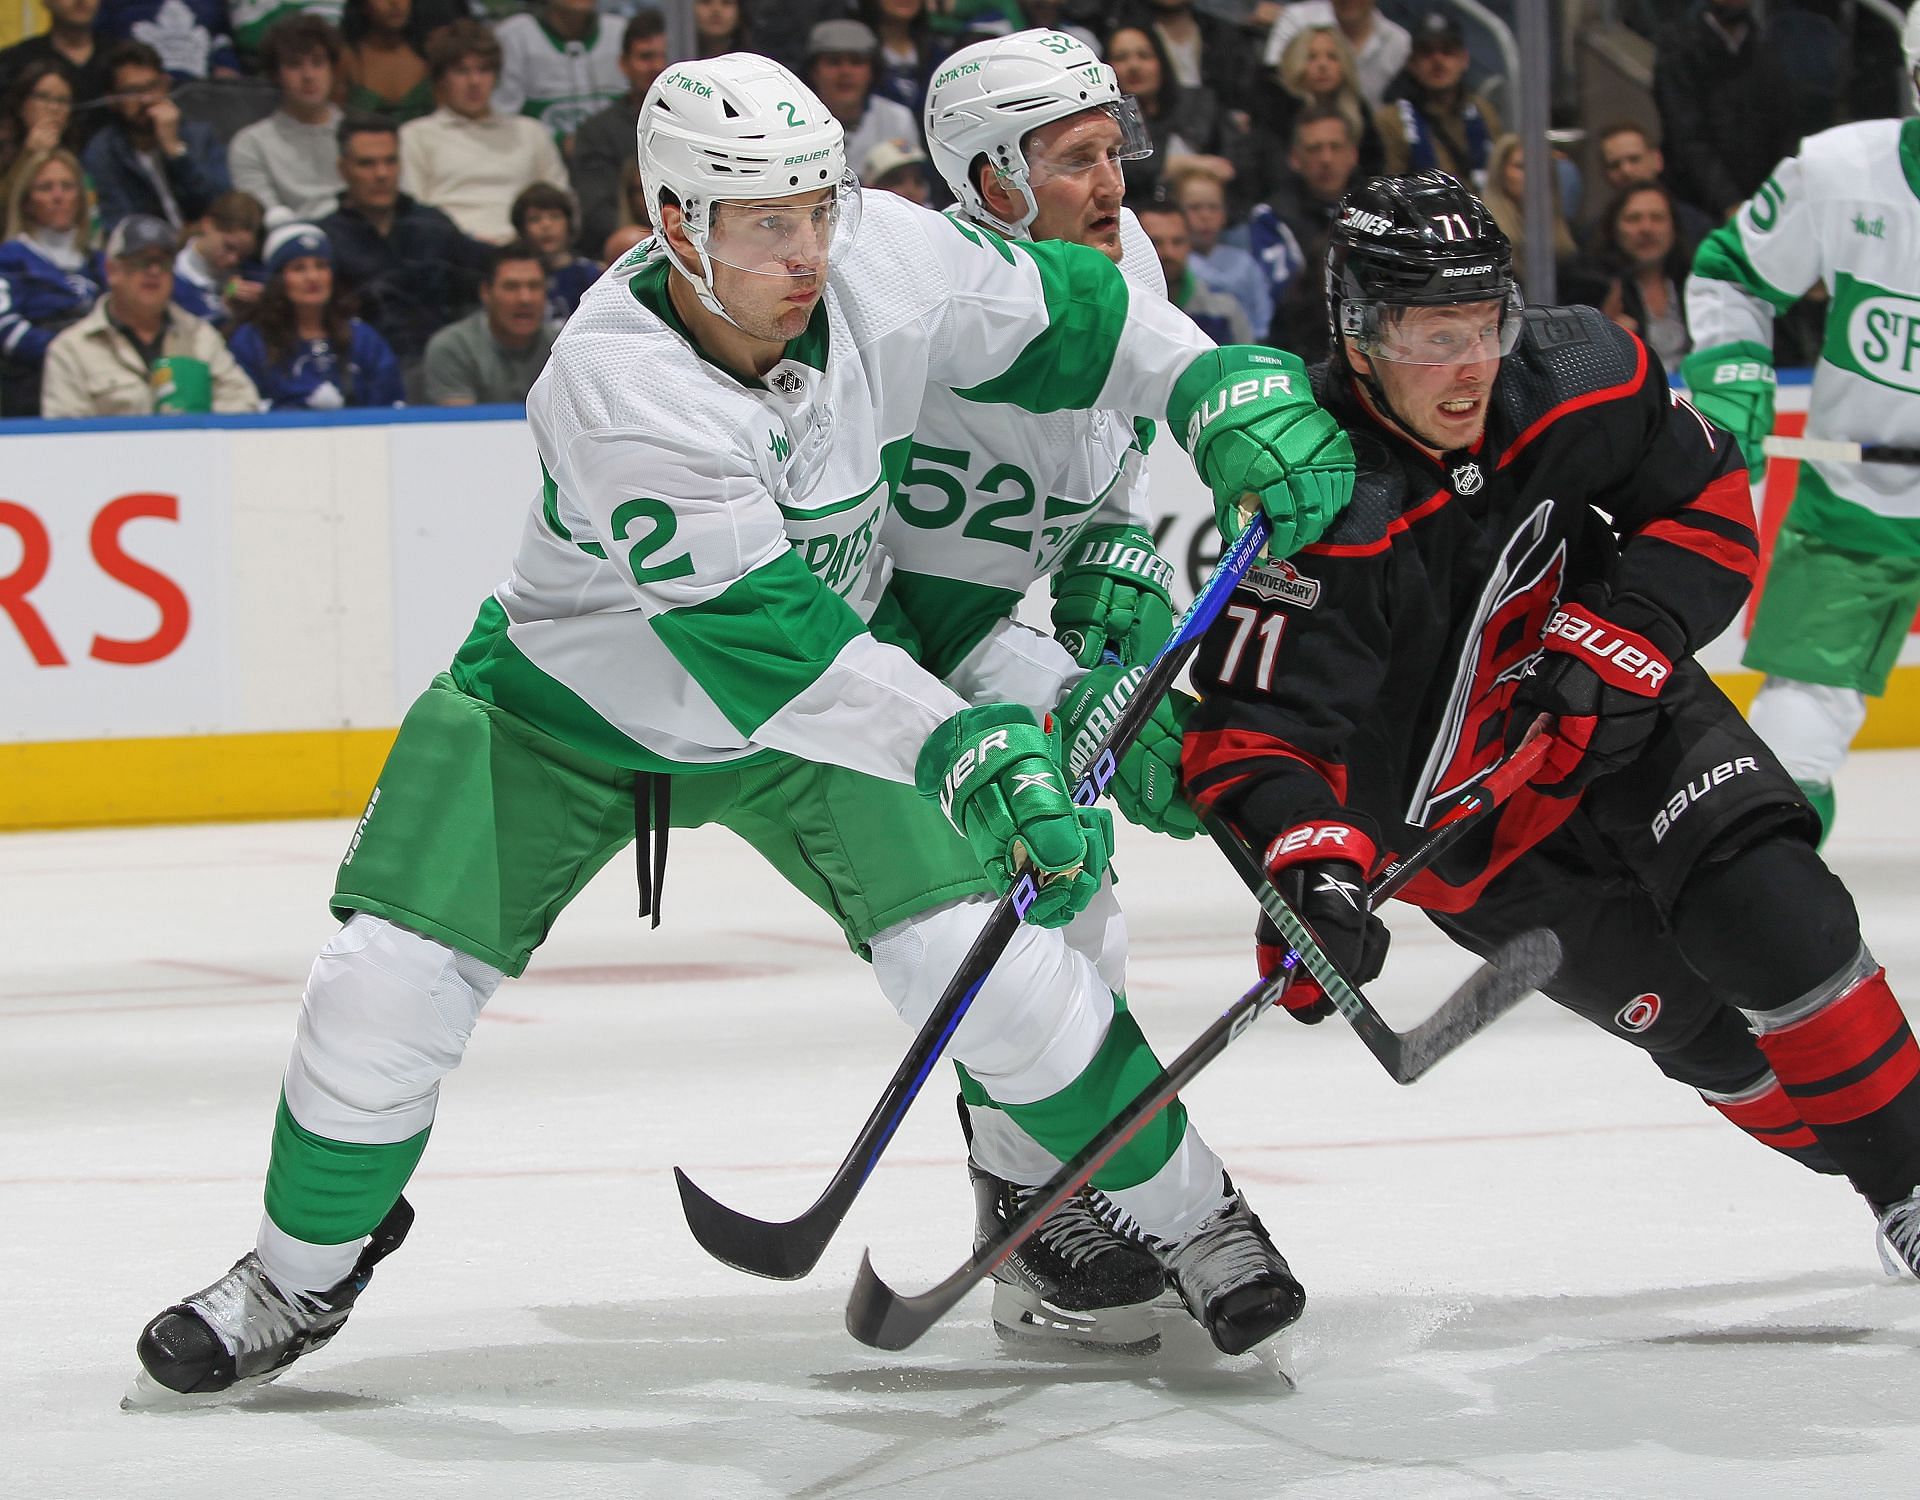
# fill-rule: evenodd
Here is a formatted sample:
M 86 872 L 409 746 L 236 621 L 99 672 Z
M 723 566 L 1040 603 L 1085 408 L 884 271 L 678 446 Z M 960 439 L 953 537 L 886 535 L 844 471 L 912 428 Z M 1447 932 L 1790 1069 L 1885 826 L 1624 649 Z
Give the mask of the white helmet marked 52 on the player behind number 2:
M 1114 117 L 1121 136 L 1117 148 L 1079 163 L 1027 159 L 1021 142 L 1033 131 L 1085 109 L 1106 109 Z M 933 167 L 962 211 L 1016 238 L 1027 238 L 1027 225 L 1041 211 L 1033 186 L 1048 173 L 1085 171 L 1102 159 L 1133 161 L 1154 150 L 1139 106 L 1119 92 L 1114 69 L 1064 31 L 1016 31 L 954 52 L 927 86 L 925 127 Z M 973 163 L 981 156 L 1027 200 L 1020 219 L 1002 219 L 979 196 Z

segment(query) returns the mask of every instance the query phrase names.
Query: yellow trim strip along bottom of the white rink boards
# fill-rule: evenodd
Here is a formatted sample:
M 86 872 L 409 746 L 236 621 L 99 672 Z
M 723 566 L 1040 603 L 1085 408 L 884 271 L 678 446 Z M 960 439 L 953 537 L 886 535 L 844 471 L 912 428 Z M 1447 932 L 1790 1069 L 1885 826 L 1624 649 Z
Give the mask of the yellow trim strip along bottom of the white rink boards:
M 1745 713 L 1759 672 L 1715 682 Z M 142 822 L 349 818 L 367 805 L 396 730 L 194 734 L 173 739 L 0 743 L 0 830 Z M 1920 665 L 1868 699 L 1855 749 L 1920 745 Z

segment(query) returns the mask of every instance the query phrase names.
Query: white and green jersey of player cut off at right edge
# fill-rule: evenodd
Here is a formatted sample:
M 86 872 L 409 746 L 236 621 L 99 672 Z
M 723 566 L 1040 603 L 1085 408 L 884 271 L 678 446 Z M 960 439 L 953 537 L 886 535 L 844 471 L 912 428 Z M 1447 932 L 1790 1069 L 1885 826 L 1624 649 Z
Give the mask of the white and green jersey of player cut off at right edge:
M 1693 348 L 1753 344 L 1770 363 L 1774 313 L 1816 282 L 1830 303 L 1807 436 L 1920 444 L 1920 119 L 1809 136 L 1707 236 L 1686 288 Z M 1920 472 L 1803 463 L 1793 520 L 1870 553 L 1910 530 L 1920 551 Z

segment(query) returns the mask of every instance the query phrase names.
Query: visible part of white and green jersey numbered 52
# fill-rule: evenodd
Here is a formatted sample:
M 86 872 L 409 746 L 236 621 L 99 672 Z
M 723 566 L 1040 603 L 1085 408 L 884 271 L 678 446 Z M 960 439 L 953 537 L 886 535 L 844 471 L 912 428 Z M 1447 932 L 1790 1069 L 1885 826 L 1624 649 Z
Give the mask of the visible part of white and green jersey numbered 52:
M 1160 257 L 1133 209 L 1119 213 L 1119 244 L 1133 290 L 1165 302 Z M 1152 528 L 1152 430 L 1125 411 L 1033 413 L 927 392 L 881 538 L 933 672 L 945 676 L 1012 615 L 1089 524 Z

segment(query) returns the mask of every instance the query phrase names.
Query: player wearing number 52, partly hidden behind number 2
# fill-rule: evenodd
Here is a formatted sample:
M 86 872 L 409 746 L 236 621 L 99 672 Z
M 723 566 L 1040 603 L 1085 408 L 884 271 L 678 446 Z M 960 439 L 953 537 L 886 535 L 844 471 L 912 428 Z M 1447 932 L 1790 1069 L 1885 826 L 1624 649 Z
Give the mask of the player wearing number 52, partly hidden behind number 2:
M 1041 29 L 960 48 L 931 79 L 925 134 L 962 223 L 1012 242 L 1091 246 L 1119 265 L 1133 296 L 1165 298 L 1152 242 L 1121 207 L 1121 163 L 1148 156 L 1152 140 L 1114 69 L 1081 40 Z M 1033 413 L 993 392 L 929 388 L 881 528 L 889 595 L 914 626 L 920 663 L 968 701 L 1058 713 L 1069 745 L 1098 739 L 1173 620 L 1173 569 L 1154 547 L 1142 472 L 1150 438 L 1152 423 L 1125 411 Z M 1052 580 L 1054 636 L 1014 620 L 1041 578 Z M 1135 822 L 1188 837 L 1194 820 L 1167 770 L 1177 757 L 1179 724 L 1162 703 L 1114 789 Z M 1123 993 L 1127 928 L 1110 880 L 1066 939 Z M 977 1229 L 989 1237 L 1060 1162 L 966 1068 L 960 1089 Z M 1004 1335 L 1129 1341 L 1139 1304 L 1164 1283 L 1110 1218 L 1087 1189 L 996 1268 L 993 1319 Z

